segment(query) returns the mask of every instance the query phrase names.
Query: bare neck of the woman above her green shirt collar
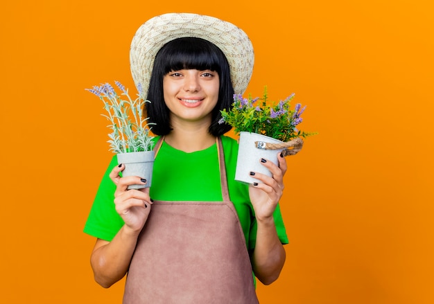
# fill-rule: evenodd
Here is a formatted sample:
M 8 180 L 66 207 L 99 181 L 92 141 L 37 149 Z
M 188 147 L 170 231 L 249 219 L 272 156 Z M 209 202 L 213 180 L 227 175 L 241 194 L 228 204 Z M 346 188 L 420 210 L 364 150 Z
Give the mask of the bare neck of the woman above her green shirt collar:
M 209 134 L 209 124 L 206 125 L 173 125 L 173 130 L 167 134 L 164 141 L 177 150 L 196 152 L 205 150 L 216 143 L 216 137 Z

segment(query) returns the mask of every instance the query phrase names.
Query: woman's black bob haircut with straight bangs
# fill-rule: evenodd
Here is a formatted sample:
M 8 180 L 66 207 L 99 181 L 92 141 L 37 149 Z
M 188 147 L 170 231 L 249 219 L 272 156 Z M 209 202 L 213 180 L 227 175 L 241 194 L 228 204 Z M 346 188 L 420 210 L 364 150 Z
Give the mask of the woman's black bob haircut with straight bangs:
M 212 110 L 209 133 L 220 136 L 232 127 L 226 123 L 218 123 L 222 118 L 220 110 L 229 110 L 234 102 L 234 87 L 232 87 L 229 64 L 225 54 L 211 42 L 196 38 L 182 37 L 164 44 L 155 56 L 153 71 L 150 75 L 148 96 L 146 99 L 145 116 L 148 123 L 155 123 L 152 132 L 155 135 L 166 135 L 171 132 L 170 111 L 164 102 L 163 77 L 170 71 L 182 69 L 211 70 L 218 73 L 220 87 L 218 101 Z

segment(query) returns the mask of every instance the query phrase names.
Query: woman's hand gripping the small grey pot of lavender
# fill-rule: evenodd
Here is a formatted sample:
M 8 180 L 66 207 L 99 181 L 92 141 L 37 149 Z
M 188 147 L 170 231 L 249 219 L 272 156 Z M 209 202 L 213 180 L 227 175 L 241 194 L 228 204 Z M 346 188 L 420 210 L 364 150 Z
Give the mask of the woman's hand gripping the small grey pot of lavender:
M 121 164 L 110 172 L 110 179 L 116 184 L 114 204 L 116 212 L 125 222 L 125 232 L 138 234 L 148 219 L 153 202 L 149 197 L 149 188 L 127 189 L 130 185 L 146 184 L 146 181 L 140 177 L 120 177 L 119 172 L 123 169 L 125 165 Z

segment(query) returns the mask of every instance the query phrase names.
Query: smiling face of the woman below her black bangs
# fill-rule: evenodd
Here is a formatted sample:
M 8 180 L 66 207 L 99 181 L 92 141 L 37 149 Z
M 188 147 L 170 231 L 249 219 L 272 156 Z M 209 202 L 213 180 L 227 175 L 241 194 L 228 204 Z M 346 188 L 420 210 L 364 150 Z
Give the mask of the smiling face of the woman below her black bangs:
M 164 75 L 164 101 L 171 111 L 171 123 L 211 123 L 220 80 L 216 71 L 185 69 Z

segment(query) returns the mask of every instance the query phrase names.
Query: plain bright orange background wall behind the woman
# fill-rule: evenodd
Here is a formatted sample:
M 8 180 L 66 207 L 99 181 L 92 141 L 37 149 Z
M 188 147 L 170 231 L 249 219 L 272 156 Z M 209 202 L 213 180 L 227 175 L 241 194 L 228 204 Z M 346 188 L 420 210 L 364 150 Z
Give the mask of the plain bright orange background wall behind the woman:
M 287 261 L 259 284 L 261 303 L 434 303 L 432 3 L 3 3 L 0 303 L 121 303 L 122 283 L 94 283 L 82 232 L 112 157 L 85 88 L 132 89 L 135 30 L 179 11 L 243 28 L 256 53 L 247 93 L 295 92 L 301 127 L 320 133 L 287 158 Z

